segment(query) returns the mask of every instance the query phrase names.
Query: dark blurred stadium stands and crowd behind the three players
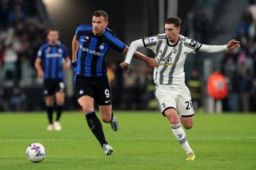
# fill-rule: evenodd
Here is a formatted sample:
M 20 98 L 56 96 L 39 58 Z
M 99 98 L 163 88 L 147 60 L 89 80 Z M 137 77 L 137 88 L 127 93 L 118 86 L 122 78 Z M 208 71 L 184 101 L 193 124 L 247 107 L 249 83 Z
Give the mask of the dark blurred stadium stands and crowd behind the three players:
M 198 42 L 224 44 L 231 38 L 241 41 L 242 48 L 232 53 L 188 57 L 187 85 L 193 91 L 197 109 L 255 113 L 255 6 L 253 0 L 2 0 L 0 111 L 44 110 L 42 81 L 37 80 L 33 64 L 39 45 L 46 41 L 46 28 L 54 26 L 60 31 L 60 39 L 71 54 L 76 26 L 90 23 L 94 10 L 101 9 L 109 14 L 110 29 L 127 45 L 134 39 L 162 33 L 162 22 L 170 14 L 182 18 L 182 34 Z M 154 56 L 148 50 L 142 52 Z M 134 60 L 127 74 L 118 68 L 123 59 L 120 53 L 108 56 L 110 73 L 114 75 L 114 109 L 157 109 L 152 69 Z M 206 90 L 207 77 L 214 71 L 222 73 L 228 84 L 228 96 L 221 101 L 209 97 Z M 66 72 L 66 86 L 65 109 L 78 109 L 71 70 Z

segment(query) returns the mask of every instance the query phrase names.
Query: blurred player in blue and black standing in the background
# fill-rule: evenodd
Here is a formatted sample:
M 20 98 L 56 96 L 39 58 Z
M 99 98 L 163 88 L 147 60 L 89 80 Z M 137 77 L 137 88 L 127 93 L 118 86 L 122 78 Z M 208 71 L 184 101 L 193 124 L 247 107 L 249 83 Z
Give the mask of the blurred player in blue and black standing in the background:
M 58 41 L 58 30 L 50 29 L 47 34 L 48 42 L 41 45 L 38 50 L 38 57 L 34 62 L 34 67 L 37 69 L 38 78 L 43 78 L 43 93 L 45 95 L 46 110 L 49 125 L 47 131 L 60 131 L 60 117 L 62 115 L 65 84 L 63 81 L 63 58 L 64 68 L 70 68 L 71 61 L 66 51 L 66 46 Z M 54 99 L 56 99 L 57 117 L 54 121 Z

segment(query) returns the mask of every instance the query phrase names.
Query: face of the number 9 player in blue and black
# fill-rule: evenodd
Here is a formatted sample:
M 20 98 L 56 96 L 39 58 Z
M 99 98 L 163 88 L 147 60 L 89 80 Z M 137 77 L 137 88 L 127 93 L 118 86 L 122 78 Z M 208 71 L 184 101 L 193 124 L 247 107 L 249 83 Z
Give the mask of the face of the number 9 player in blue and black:
M 101 35 L 105 32 L 106 26 L 108 22 L 103 17 L 95 17 L 93 16 L 92 25 L 93 32 L 95 35 Z

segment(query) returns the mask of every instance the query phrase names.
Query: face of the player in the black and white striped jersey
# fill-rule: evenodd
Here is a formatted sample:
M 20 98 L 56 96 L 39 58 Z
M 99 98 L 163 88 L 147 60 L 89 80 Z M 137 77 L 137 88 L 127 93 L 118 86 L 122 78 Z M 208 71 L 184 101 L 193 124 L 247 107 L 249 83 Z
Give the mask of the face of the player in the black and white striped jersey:
M 168 38 L 170 42 L 176 43 L 178 41 L 179 31 L 180 28 L 175 27 L 174 24 L 165 24 L 166 38 Z

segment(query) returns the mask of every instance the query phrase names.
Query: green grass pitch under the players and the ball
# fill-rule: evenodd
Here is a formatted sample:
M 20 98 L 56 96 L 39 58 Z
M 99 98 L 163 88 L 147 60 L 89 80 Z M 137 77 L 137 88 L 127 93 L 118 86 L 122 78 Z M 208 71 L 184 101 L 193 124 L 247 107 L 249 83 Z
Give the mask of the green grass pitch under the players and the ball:
M 256 114 L 195 115 L 186 136 L 197 159 L 189 162 L 157 111 L 115 115 L 118 132 L 102 124 L 114 148 L 105 156 L 82 113 L 64 113 L 61 132 L 46 132 L 45 113 L 0 113 L 0 169 L 256 169 Z M 26 159 L 33 142 L 46 148 L 38 164 Z

